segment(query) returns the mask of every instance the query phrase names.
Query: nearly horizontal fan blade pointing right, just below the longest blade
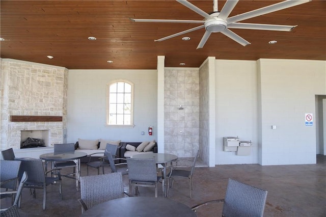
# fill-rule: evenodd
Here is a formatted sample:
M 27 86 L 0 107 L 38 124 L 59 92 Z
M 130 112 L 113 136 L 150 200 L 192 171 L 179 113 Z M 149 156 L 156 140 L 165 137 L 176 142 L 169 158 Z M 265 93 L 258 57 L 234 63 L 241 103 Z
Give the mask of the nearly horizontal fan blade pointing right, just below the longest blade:
M 231 29 L 247 29 L 247 30 L 271 30 L 271 31 L 285 31 L 290 32 L 297 25 L 272 25 L 259 23 L 243 23 L 233 22 L 228 24 Z

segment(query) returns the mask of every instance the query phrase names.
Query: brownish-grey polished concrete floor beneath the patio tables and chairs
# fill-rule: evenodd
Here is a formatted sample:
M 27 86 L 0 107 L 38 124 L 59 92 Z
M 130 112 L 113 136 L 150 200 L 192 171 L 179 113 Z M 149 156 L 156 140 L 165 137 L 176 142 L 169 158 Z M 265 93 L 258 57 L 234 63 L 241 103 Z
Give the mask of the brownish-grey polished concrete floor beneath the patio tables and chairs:
M 110 169 L 106 168 L 106 173 Z M 97 174 L 93 168 L 91 175 Z M 86 166 L 82 166 L 82 176 Z M 317 155 L 316 165 L 260 166 L 260 165 L 217 165 L 214 168 L 198 167 L 194 174 L 193 198 L 189 198 L 188 182 L 176 180 L 170 189 L 169 199 L 189 207 L 198 203 L 224 198 L 228 178 L 266 189 L 268 191 L 264 216 L 326 216 L 326 156 Z M 125 175 L 125 191 L 128 189 L 128 176 Z M 159 184 L 161 187 L 161 184 Z M 56 184 L 47 191 L 46 210 L 42 210 L 42 190 L 37 189 L 37 197 L 23 189 L 21 216 L 79 216 L 81 207 L 77 201 L 80 192 L 75 189 L 75 181 L 63 178 L 63 200 Z M 154 189 L 140 187 L 139 197 L 154 197 Z M 158 191 L 158 197 L 162 192 Z M 9 200 L 1 200 L 2 207 Z M 221 216 L 222 203 L 211 204 L 198 210 L 198 216 Z

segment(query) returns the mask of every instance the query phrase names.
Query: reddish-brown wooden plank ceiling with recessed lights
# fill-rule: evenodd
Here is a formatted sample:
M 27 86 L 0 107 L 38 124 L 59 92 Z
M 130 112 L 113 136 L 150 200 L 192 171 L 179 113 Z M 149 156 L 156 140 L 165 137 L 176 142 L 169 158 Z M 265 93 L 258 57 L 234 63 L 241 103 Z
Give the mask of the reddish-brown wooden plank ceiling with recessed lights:
M 213 1 L 190 1 L 207 13 Z M 281 1 L 239 1 L 230 16 Z M 298 25 L 291 32 L 240 30 L 251 42 L 243 47 L 212 33 L 196 47 L 204 29 L 154 42 L 200 24 L 131 22 L 137 19 L 203 17 L 176 1 L 1 1 L 1 58 L 31 61 L 68 69 L 156 69 L 157 56 L 166 67 L 199 67 L 207 57 L 225 60 L 326 60 L 326 1 L 314 0 L 243 22 Z M 225 1 L 219 0 L 221 10 Z M 96 37 L 96 41 L 88 37 Z M 181 38 L 190 37 L 189 41 Z M 268 41 L 277 40 L 276 44 Z M 53 56 L 48 59 L 46 56 Z M 113 63 L 108 64 L 107 61 Z

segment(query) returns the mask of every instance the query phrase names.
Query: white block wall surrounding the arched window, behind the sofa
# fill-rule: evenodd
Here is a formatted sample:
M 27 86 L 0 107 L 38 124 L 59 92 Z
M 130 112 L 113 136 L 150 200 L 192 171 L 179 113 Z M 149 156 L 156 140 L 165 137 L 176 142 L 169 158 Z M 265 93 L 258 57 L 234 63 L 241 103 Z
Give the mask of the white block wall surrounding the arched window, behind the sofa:
M 133 128 L 105 125 L 106 85 L 118 79 L 134 84 Z M 123 142 L 157 139 L 156 70 L 69 70 L 68 84 L 67 142 L 78 138 Z M 152 136 L 148 135 L 149 126 L 153 126 Z

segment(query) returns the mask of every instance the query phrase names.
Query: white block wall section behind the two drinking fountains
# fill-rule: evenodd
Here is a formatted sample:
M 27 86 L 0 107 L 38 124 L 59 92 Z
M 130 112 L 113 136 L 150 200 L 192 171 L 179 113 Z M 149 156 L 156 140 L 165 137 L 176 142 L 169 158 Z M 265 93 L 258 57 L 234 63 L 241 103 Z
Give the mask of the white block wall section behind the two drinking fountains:
M 257 164 L 257 79 L 255 61 L 215 61 L 216 165 Z M 252 141 L 250 155 L 223 151 L 223 137 Z

